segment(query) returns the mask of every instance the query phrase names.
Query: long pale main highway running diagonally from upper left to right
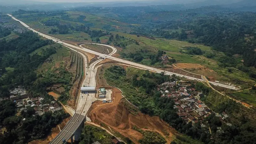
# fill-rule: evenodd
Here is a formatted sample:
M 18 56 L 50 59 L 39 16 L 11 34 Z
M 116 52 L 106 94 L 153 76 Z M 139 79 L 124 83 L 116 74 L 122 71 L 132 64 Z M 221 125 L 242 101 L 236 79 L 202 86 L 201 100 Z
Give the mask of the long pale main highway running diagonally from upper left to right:
M 29 30 L 32 30 L 33 32 L 37 33 L 38 35 L 40 36 L 43 36 L 47 39 L 50 39 L 56 43 L 59 43 L 59 44 L 62 44 L 64 46 L 68 46 L 70 48 L 74 48 L 74 49 L 77 49 L 77 50 L 81 50 L 81 51 L 84 51 L 84 52 L 89 52 L 89 53 L 92 53 L 92 54 L 95 54 L 95 55 L 99 55 L 101 57 L 104 57 L 104 58 L 107 58 L 107 59 L 111 59 L 111 60 L 115 60 L 115 61 L 119 61 L 119 62 L 122 62 L 122 63 L 125 63 L 125 64 L 128 64 L 128 65 L 131 65 L 131 66 L 136 66 L 138 68 L 143 68 L 143 69 L 147 69 L 149 71 L 154 71 L 156 73 L 161 73 L 161 72 L 164 72 L 165 74 L 167 75 L 176 75 L 176 76 L 180 76 L 180 77 L 185 77 L 187 79 L 190 79 L 190 80 L 197 80 L 197 81 L 204 81 L 203 79 L 198 79 L 198 78 L 195 78 L 195 77 L 190 77 L 190 76 L 185 76 L 185 75 L 180 75 L 180 74 L 177 74 L 177 73 L 172 73 L 172 72 L 169 72 L 169 71 L 164 71 L 164 70 L 161 70 L 161 69 L 157 69 L 157 68 L 152 68 L 152 67 L 149 67 L 149 66 L 145 66 L 145 65 L 142 65 L 142 64 L 138 64 L 138 63 L 135 63 L 135 62 L 131 62 L 131 61 L 128 61 L 128 60 L 123 60 L 123 59 L 120 59 L 120 58 L 116 58 L 116 57 L 112 57 L 108 54 L 102 54 L 100 52 L 94 52 L 92 50 L 89 50 L 89 49 L 86 49 L 86 48 L 81 48 L 81 47 L 78 47 L 78 46 L 75 46 L 75 45 L 72 45 L 72 44 L 68 44 L 68 43 L 65 43 L 63 41 L 61 41 L 60 39 L 57 39 L 57 38 L 54 38 L 52 36 L 48 36 L 48 35 L 45 35 L 43 33 L 40 33 L 36 30 L 34 30 L 33 28 L 30 28 L 27 24 L 25 24 L 24 22 L 14 18 L 12 15 L 10 14 L 7 14 L 8 16 L 12 17 L 13 20 L 16 20 L 18 22 L 20 22 L 20 24 L 22 24 L 23 26 L 25 26 L 26 28 L 28 28 Z M 91 44 L 96 44 L 96 43 L 91 43 Z M 110 45 L 107 45 L 107 44 L 100 44 L 100 45 L 104 45 L 104 46 L 107 46 L 107 47 L 112 47 Z M 225 84 L 219 84 L 219 83 L 214 83 L 214 82 L 209 82 L 211 84 L 214 84 L 214 85 L 218 85 L 220 87 L 225 87 L 225 88 L 228 88 L 228 89 L 236 89 L 236 87 L 234 86 L 230 86 L 230 85 L 225 85 Z

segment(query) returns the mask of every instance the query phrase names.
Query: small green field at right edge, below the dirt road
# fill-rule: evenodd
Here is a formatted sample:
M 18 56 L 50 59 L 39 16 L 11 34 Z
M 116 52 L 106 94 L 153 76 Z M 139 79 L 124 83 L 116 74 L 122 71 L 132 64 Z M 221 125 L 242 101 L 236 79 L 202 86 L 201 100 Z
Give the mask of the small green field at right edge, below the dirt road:
M 228 93 L 228 95 L 256 107 L 256 90 L 244 90 L 243 92 Z

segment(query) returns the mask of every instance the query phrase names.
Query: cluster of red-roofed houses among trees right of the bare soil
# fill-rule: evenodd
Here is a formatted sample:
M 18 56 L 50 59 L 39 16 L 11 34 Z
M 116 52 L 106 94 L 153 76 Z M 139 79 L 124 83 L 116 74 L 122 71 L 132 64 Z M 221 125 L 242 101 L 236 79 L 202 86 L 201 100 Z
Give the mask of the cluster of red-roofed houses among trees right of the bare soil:
M 191 85 L 176 84 L 176 82 L 165 82 L 157 86 L 157 91 L 162 97 L 171 97 L 175 101 L 173 108 L 177 109 L 177 114 L 185 121 L 198 123 L 204 117 L 214 113 L 209 109 L 200 98 L 204 97 L 202 92 L 190 88 Z M 227 114 L 215 114 L 221 120 L 228 118 Z M 202 125 L 205 126 L 204 124 Z

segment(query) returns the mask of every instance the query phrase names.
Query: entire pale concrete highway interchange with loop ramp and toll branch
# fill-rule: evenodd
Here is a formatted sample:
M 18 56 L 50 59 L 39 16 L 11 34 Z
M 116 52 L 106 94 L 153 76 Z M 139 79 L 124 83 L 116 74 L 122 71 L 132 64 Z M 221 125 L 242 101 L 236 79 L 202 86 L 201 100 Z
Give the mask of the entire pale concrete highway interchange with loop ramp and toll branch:
M 32 30 L 33 32 L 37 33 L 38 35 L 43 36 L 47 39 L 50 39 L 50 40 L 52 40 L 56 43 L 62 44 L 63 46 L 66 46 L 69 49 L 81 54 L 83 56 L 83 59 L 84 59 L 84 70 L 85 70 L 84 74 L 87 73 L 87 76 L 85 76 L 85 79 L 82 83 L 82 85 L 85 85 L 85 86 L 96 87 L 96 74 L 97 74 L 97 69 L 99 68 L 99 66 L 97 66 L 97 65 L 104 59 L 96 60 L 95 62 L 93 62 L 89 66 L 89 62 L 88 62 L 87 57 L 80 51 L 92 53 L 92 54 L 98 55 L 102 58 L 115 60 L 115 61 L 118 61 L 120 63 L 123 63 L 125 65 L 129 65 L 129 66 L 132 66 L 132 67 L 135 67 L 135 68 L 149 70 L 149 71 L 156 72 L 156 73 L 164 72 L 166 75 L 175 74 L 176 76 L 185 77 L 185 78 L 190 79 L 190 80 L 206 81 L 206 82 L 211 83 L 213 85 L 218 85 L 218 86 L 225 87 L 225 88 L 228 88 L 228 89 L 236 89 L 236 87 L 234 87 L 234 86 L 219 84 L 219 83 L 215 83 L 215 82 L 209 82 L 205 77 L 203 77 L 202 79 L 198 79 L 198 78 L 185 76 L 185 75 L 180 75 L 180 74 L 177 74 L 177 73 L 172 73 L 172 72 L 169 72 L 169 71 L 164 71 L 164 70 L 161 70 L 161 69 L 152 68 L 152 67 L 141 65 L 141 64 L 131 62 L 131 61 L 128 61 L 128 60 L 123 60 L 123 59 L 120 59 L 120 58 L 113 57 L 111 55 L 116 53 L 117 49 L 113 46 L 110 46 L 110 45 L 98 44 L 98 45 L 102 45 L 102 46 L 107 46 L 107 47 L 109 47 L 113 50 L 110 54 L 102 54 L 102 53 L 95 52 L 95 51 L 92 51 L 92 50 L 89 50 L 89 49 L 86 49 L 86 48 L 82 47 L 83 44 L 80 44 L 79 46 L 68 44 L 68 43 L 65 43 L 65 42 L 61 41 L 60 39 L 54 38 L 52 36 L 45 35 L 43 33 L 40 33 L 38 31 L 34 30 L 33 28 L 30 28 L 27 24 L 25 24 L 24 22 L 14 18 L 10 14 L 7 14 L 7 15 L 12 17 L 13 20 L 16 20 L 16 21 L 20 22 L 20 24 L 22 24 L 24 27 L 28 28 L 29 30 Z M 96 43 L 87 43 L 87 44 L 96 44 Z M 70 139 L 71 136 L 76 131 L 76 129 L 79 127 L 79 125 L 83 122 L 87 111 L 91 107 L 92 102 L 95 101 L 95 100 L 97 100 L 95 98 L 95 93 L 89 93 L 89 94 L 80 93 L 80 96 L 79 96 L 79 99 L 78 99 L 78 102 L 77 102 L 76 114 L 69 120 L 68 124 L 66 124 L 64 129 L 50 142 L 50 144 L 60 144 L 60 143 L 62 143 L 63 139 L 65 139 L 65 140 Z

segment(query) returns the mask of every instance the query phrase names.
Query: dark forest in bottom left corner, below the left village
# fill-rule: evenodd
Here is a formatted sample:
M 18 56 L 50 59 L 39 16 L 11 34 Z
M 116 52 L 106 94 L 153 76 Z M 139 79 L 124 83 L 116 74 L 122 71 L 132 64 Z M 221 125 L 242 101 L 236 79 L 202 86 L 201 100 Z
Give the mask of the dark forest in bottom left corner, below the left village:
M 45 138 L 52 127 L 68 116 L 63 110 L 38 116 L 30 107 L 17 115 L 16 104 L 11 100 L 0 101 L 0 114 L 0 127 L 5 128 L 4 133 L 0 133 L 1 144 L 24 144 Z

